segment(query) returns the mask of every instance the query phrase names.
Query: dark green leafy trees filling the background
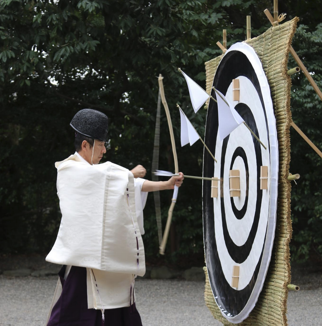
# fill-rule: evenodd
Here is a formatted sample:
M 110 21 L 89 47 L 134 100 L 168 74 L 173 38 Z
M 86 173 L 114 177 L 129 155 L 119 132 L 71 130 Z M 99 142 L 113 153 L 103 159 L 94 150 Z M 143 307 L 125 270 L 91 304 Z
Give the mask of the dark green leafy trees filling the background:
M 73 153 L 69 122 L 78 110 L 90 107 L 108 115 L 105 160 L 128 168 L 142 164 L 150 178 L 156 77 L 164 76 L 177 144 L 175 103 L 203 134 L 206 111 L 193 113 L 177 67 L 204 87 L 204 62 L 221 53 L 216 42 L 222 29 L 228 47 L 245 40 L 246 15 L 251 15 L 252 36 L 257 36 L 270 27 L 265 8 L 273 12 L 273 1 L 0 0 L 0 252 L 43 253 L 53 244 L 61 218 L 54 162 Z M 293 48 L 322 88 L 318 1 L 283 1 L 279 12 L 287 19 L 300 17 Z M 294 66 L 291 58 L 289 67 Z M 292 80 L 293 120 L 322 148 L 322 102 L 302 73 Z M 292 257 L 321 257 L 322 160 L 294 130 L 291 144 L 290 171 L 301 174 L 292 189 Z M 163 111 L 160 151 L 160 168 L 174 170 Z M 177 146 L 177 152 L 179 170 L 202 174 L 201 143 Z M 175 206 L 166 259 L 181 265 L 203 261 L 201 189 L 199 181 L 186 179 Z M 144 236 L 150 261 L 158 255 L 152 198 Z M 170 192 L 161 194 L 164 223 L 170 198 Z

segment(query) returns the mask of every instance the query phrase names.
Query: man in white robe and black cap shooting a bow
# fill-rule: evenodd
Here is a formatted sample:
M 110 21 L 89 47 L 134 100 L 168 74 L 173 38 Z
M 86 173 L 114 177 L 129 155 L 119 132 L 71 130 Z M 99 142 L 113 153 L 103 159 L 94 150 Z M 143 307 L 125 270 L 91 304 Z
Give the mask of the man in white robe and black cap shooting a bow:
M 62 220 L 46 260 L 63 267 L 47 325 L 140 326 L 134 280 L 145 274 L 147 192 L 180 186 L 183 174 L 153 182 L 141 179 L 141 165 L 129 171 L 98 164 L 106 153 L 108 119 L 102 112 L 81 110 L 70 125 L 76 152 L 55 163 Z

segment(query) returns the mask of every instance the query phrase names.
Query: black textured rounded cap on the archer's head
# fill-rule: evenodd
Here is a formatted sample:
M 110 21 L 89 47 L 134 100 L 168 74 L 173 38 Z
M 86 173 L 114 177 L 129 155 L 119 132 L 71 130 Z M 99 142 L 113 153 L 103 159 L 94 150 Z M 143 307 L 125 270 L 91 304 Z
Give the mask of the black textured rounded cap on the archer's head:
M 92 109 L 80 110 L 74 115 L 70 125 L 78 133 L 86 137 L 106 141 L 108 118 L 100 111 Z

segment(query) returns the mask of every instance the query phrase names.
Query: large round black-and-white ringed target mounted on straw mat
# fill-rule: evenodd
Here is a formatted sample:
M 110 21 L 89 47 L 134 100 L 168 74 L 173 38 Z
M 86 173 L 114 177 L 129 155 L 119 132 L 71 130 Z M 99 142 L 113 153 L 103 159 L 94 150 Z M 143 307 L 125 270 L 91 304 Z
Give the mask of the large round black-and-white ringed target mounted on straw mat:
M 233 79 L 239 80 L 239 101 L 232 100 Z M 213 86 L 267 148 L 243 124 L 221 141 L 217 103 L 210 100 L 205 143 L 217 163 L 204 151 L 203 175 L 220 181 L 215 198 L 211 197 L 211 181 L 203 182 L 205 258 L 210 286 L 222 315 L 239 323 L 254 308 L 271 259 L 277 205 L 277 131 L 269 84 L 250 46 L 231 46 L 217 67 Z M 267 189 L 263 190 L 262 166 L 268 170 Z M 239 171 L 239 197 L 230 196 L 230 170 Z M 237 287 L 233 277 L 238 278 Z

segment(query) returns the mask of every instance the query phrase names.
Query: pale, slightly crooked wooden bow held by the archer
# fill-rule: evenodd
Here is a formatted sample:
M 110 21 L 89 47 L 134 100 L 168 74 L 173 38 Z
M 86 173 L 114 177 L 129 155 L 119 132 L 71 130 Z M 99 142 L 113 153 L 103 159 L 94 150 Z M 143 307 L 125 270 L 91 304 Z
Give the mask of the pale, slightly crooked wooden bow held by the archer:
M 170 137 L 171 137 L 171 145 L 172 145 L 173 159 L 174 159 L 174 163 L 175 163 L 175 173 L 177 174 L 177 173 L 179 173 L 179 168 L 178 168 L 177 152 L 175 150 L 175 137 L 174 137 L 173 129 L 172 129 L 170 111 L 169 111 L 169 108 L 168 108 L 167 101 L 165 100 L 164 88 L 163 88 L 163 81 L 162 80 L 163 80 L 163 77 L 160 74 L 159 75 L 159 78 L 158 78 L 158 82 L 159 82 L 159 89 L 160 89 L 161 101 L 162 101 L 162 104 L 164 106 L 165 113 L 167 115 L 167 120 L 168 120 L 168 125 L 169 125 L 169 131 L 170 131 Z M 173 191 L 171 205 L 170 205 L 170 208 L 168 210 L 167 224 L 165 225 L 165 229 L 164 229 L 164 233 L 163 233 L 163 237 L 162 237 L 162 243 L 160 245 L 160 254 L 161 255 L 164 255 L 165 246 L 167 244 L 169 230 L 170 230 L 170 225 L 171 225 L 171 220 L 172 220 L 172 212 L 173 212 L 173 208 L 175 207 L 175 202 L 176 202 L 177 195 L 178 195 L 178 189 L 179 189 L 178 186 L 175 185 L 175 188 L 174 188 L 174 191 Z

